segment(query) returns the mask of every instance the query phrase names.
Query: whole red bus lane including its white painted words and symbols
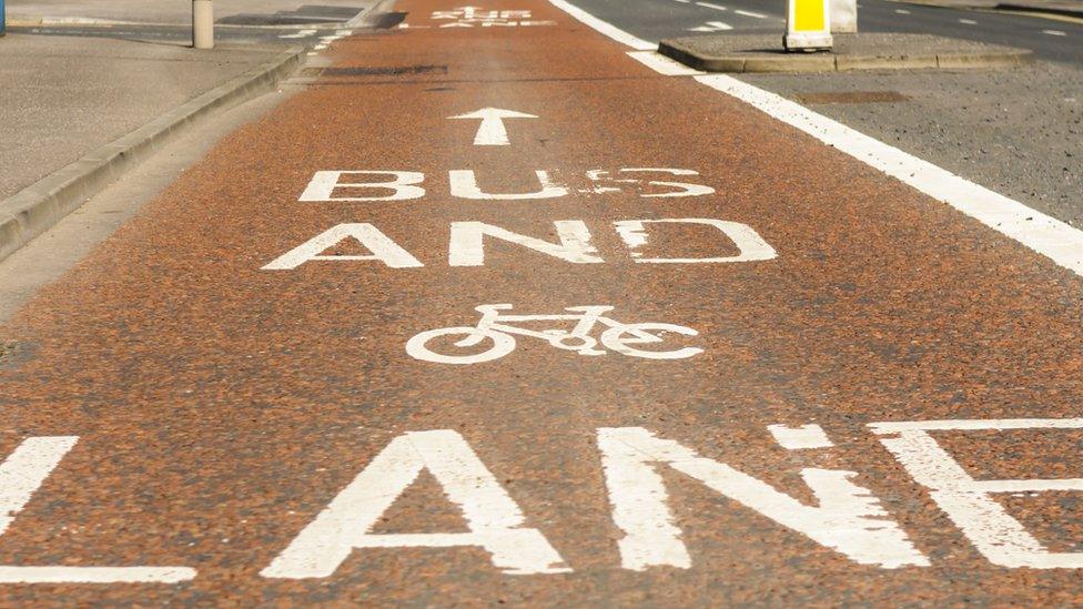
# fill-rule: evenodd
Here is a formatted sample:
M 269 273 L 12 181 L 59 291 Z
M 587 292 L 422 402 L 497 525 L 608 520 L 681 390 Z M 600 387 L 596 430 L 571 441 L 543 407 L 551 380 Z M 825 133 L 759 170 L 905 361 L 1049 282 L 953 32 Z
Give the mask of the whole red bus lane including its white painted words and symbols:
M 396 10 L 0 326 L 0 603 L 1079 598 L 1083 233 L 561 2 Z

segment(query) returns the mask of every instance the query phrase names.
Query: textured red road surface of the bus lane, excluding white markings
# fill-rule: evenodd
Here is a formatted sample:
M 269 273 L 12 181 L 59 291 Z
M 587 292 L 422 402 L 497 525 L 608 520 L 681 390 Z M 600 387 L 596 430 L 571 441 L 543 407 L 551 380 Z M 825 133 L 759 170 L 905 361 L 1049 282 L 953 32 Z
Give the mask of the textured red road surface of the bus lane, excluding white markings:
M 0 454 L 80 439 L 0 537 L 0 565 L 196 575 L 3 583 L 0 605 L 1077 601 L 1076 569 L 993 565 L 867 425 L 1076 416 L 1080 278 L 739 101 L 658 75 L 546 2 L 508 2 L 482 8 L 554 23 L 439 28 L 451 21 L 431 13 L 454 4 L 407 0 L 396 10 L 411 28 L 338 42 L 335 70 L 223 141 L 3 327 L 16 348 L 0 366 Z M 478 122 L 447 118 L 486 106 L 538 119 L 506 121 L 508 146 L 475 146 Z M 692 170 L 668 181 L 715 192 L 591 190 L 586 172 L 621 168 Z M 331 170 L 422 172 L 426 194 L 300 202 Z M 488 192 L 536 190 L 545 170 L 571 192 L 462 199 L 451 170 L 474 170 Z M 748 225 L 778 255 L 641 264 L 611 226 L 689 217 Z M 567 220 L 586 224 L 603 263 L 487 238 L 484 266 L 448 264 L 452 222 L 556 242 L 553 223 Z M 342 223 L 373 224 L 424 266 L 261 270 Z M 736 253 L 713 229 L 648 226 L 644 257 Z M 335 252 L 366 253 L 348 241 Z M 494 303 L 610 305 L 621 322 L 695 328 L 667 344 L 704 353 L 585 356 L 530 337 L 467 366 L 405 352 Z M 787 450 L 767 429 L 812 423 L 834 447 Z M 597 446 L 613 427 L 809 506 L 802 468 L 856 471 L 928 566 L 859 564 L 659 465 L 691 562 L 623 568 Z M 260 575 L 395 437 L 437 429 L 469 444 L 570 572 L 506 575 L 475 547 L 365 548 L 326 577 Z M 974 478 L 1083 471 L 1077 429 L 938 434 Z M 998 500 L 1050 551 L 1083 551 L 1077 493 Z M 423 473 L 372 532 L 467 530 Z

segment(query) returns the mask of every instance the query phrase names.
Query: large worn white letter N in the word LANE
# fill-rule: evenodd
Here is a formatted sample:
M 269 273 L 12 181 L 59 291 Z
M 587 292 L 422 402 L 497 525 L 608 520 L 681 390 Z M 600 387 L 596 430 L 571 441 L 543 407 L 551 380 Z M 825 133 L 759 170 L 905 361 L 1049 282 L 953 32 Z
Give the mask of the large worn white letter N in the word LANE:
M 853 471 L 806 468 L 801 478 L 817 498 L 807 506 L 772 486 L 726 464 L 655 437 L 641 427 L 598 429 L 613 520 L 625 536 L 617 541 L 626 569 L 688 569 L 691 557 L 669 508 L 657 465 L 699 480 L 708 488 L 760 515 L 803 534 L 860 565 L 884 569 L 927 567 L 919 551 L 872 493 L 852 481 Z

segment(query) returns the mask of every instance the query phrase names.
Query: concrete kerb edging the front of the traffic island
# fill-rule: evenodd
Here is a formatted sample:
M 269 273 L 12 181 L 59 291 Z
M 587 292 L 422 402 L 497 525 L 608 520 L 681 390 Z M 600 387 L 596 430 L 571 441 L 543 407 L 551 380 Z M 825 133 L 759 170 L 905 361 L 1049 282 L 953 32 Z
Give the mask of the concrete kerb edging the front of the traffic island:
M 922 70 L 1009 68 L 1033 62 L 1024 49 L 915 54 L 719 53 L 709 54 L 680 40 L 662 40 L 658 52 L 704 72 L 843 72 L 851 70 Z

